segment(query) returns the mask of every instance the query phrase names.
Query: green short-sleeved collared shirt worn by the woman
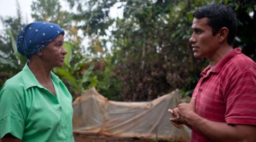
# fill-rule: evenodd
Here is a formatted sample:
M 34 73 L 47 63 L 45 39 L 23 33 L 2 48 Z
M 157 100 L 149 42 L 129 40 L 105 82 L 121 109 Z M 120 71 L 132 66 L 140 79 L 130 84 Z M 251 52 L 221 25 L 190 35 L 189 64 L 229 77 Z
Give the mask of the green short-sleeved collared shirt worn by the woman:
M 72 97 L 51 72 L 56 96 L 45 89 L 26 64 L 0 92 L 0 137 L 22 141 L 74 141 Z

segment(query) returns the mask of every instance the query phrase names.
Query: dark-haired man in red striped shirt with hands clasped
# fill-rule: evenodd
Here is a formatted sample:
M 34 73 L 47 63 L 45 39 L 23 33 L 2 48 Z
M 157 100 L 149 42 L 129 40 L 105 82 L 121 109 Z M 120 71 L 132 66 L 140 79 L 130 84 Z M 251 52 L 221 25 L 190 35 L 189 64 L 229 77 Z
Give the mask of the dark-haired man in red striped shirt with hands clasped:
M 256 141 L 256 63 L 232 47 L 236 22 L 234 11 L 221 4 L 194 13 L 189 43 L 210 65 L 190 103 L 169 110 L 175 127 L 192 129 L 191 141 Z

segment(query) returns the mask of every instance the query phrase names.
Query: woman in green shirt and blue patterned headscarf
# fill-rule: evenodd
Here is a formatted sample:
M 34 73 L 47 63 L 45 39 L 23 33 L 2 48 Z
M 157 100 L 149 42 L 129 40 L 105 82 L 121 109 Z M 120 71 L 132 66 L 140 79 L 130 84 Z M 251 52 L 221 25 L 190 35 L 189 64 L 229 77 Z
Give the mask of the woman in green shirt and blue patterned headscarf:
M 64 34 L 57 24 L 33 22 L 18 35 L 18 52 L 29 62 L 0 92 L 2 142 L 74 141 L 72 97 L 51 72 L 67 54 Z

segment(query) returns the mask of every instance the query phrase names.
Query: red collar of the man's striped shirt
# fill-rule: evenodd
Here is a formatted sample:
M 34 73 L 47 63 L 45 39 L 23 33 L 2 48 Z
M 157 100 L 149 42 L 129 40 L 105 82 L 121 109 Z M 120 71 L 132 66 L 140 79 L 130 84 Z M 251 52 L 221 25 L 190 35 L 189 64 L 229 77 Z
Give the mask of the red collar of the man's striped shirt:
M 225 55 L 218 63 L 217 65 L 210 71 L 210 72 L 214 72 L 214 73 L 218 73 L 223 66 L 229 61 L 231 60 L 234 56 L 236 56 L 237 54 L 241 54 L 242 48 L 238 47 L 233 49 L 232 51 L 230 51 L 227 55 Z M 202 72 L 201 72 L 201 77 L 205 76 L 207 74 L 207 71 L 211 69 L 211 66 L 208 65 Z

